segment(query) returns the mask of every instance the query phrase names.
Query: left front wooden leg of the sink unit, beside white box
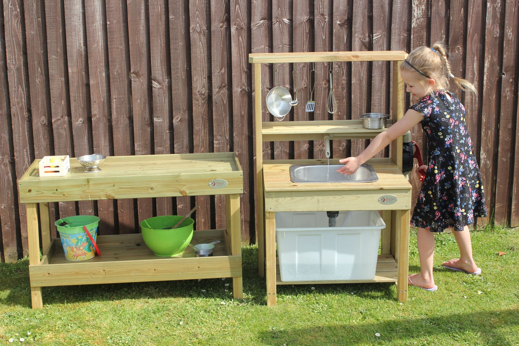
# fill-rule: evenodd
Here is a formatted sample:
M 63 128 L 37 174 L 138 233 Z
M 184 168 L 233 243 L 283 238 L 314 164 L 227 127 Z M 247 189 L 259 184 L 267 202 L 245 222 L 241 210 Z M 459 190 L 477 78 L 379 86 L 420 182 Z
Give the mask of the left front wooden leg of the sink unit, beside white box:
M 276 213 L 265 212 L 267 305 L 276 305 Z

